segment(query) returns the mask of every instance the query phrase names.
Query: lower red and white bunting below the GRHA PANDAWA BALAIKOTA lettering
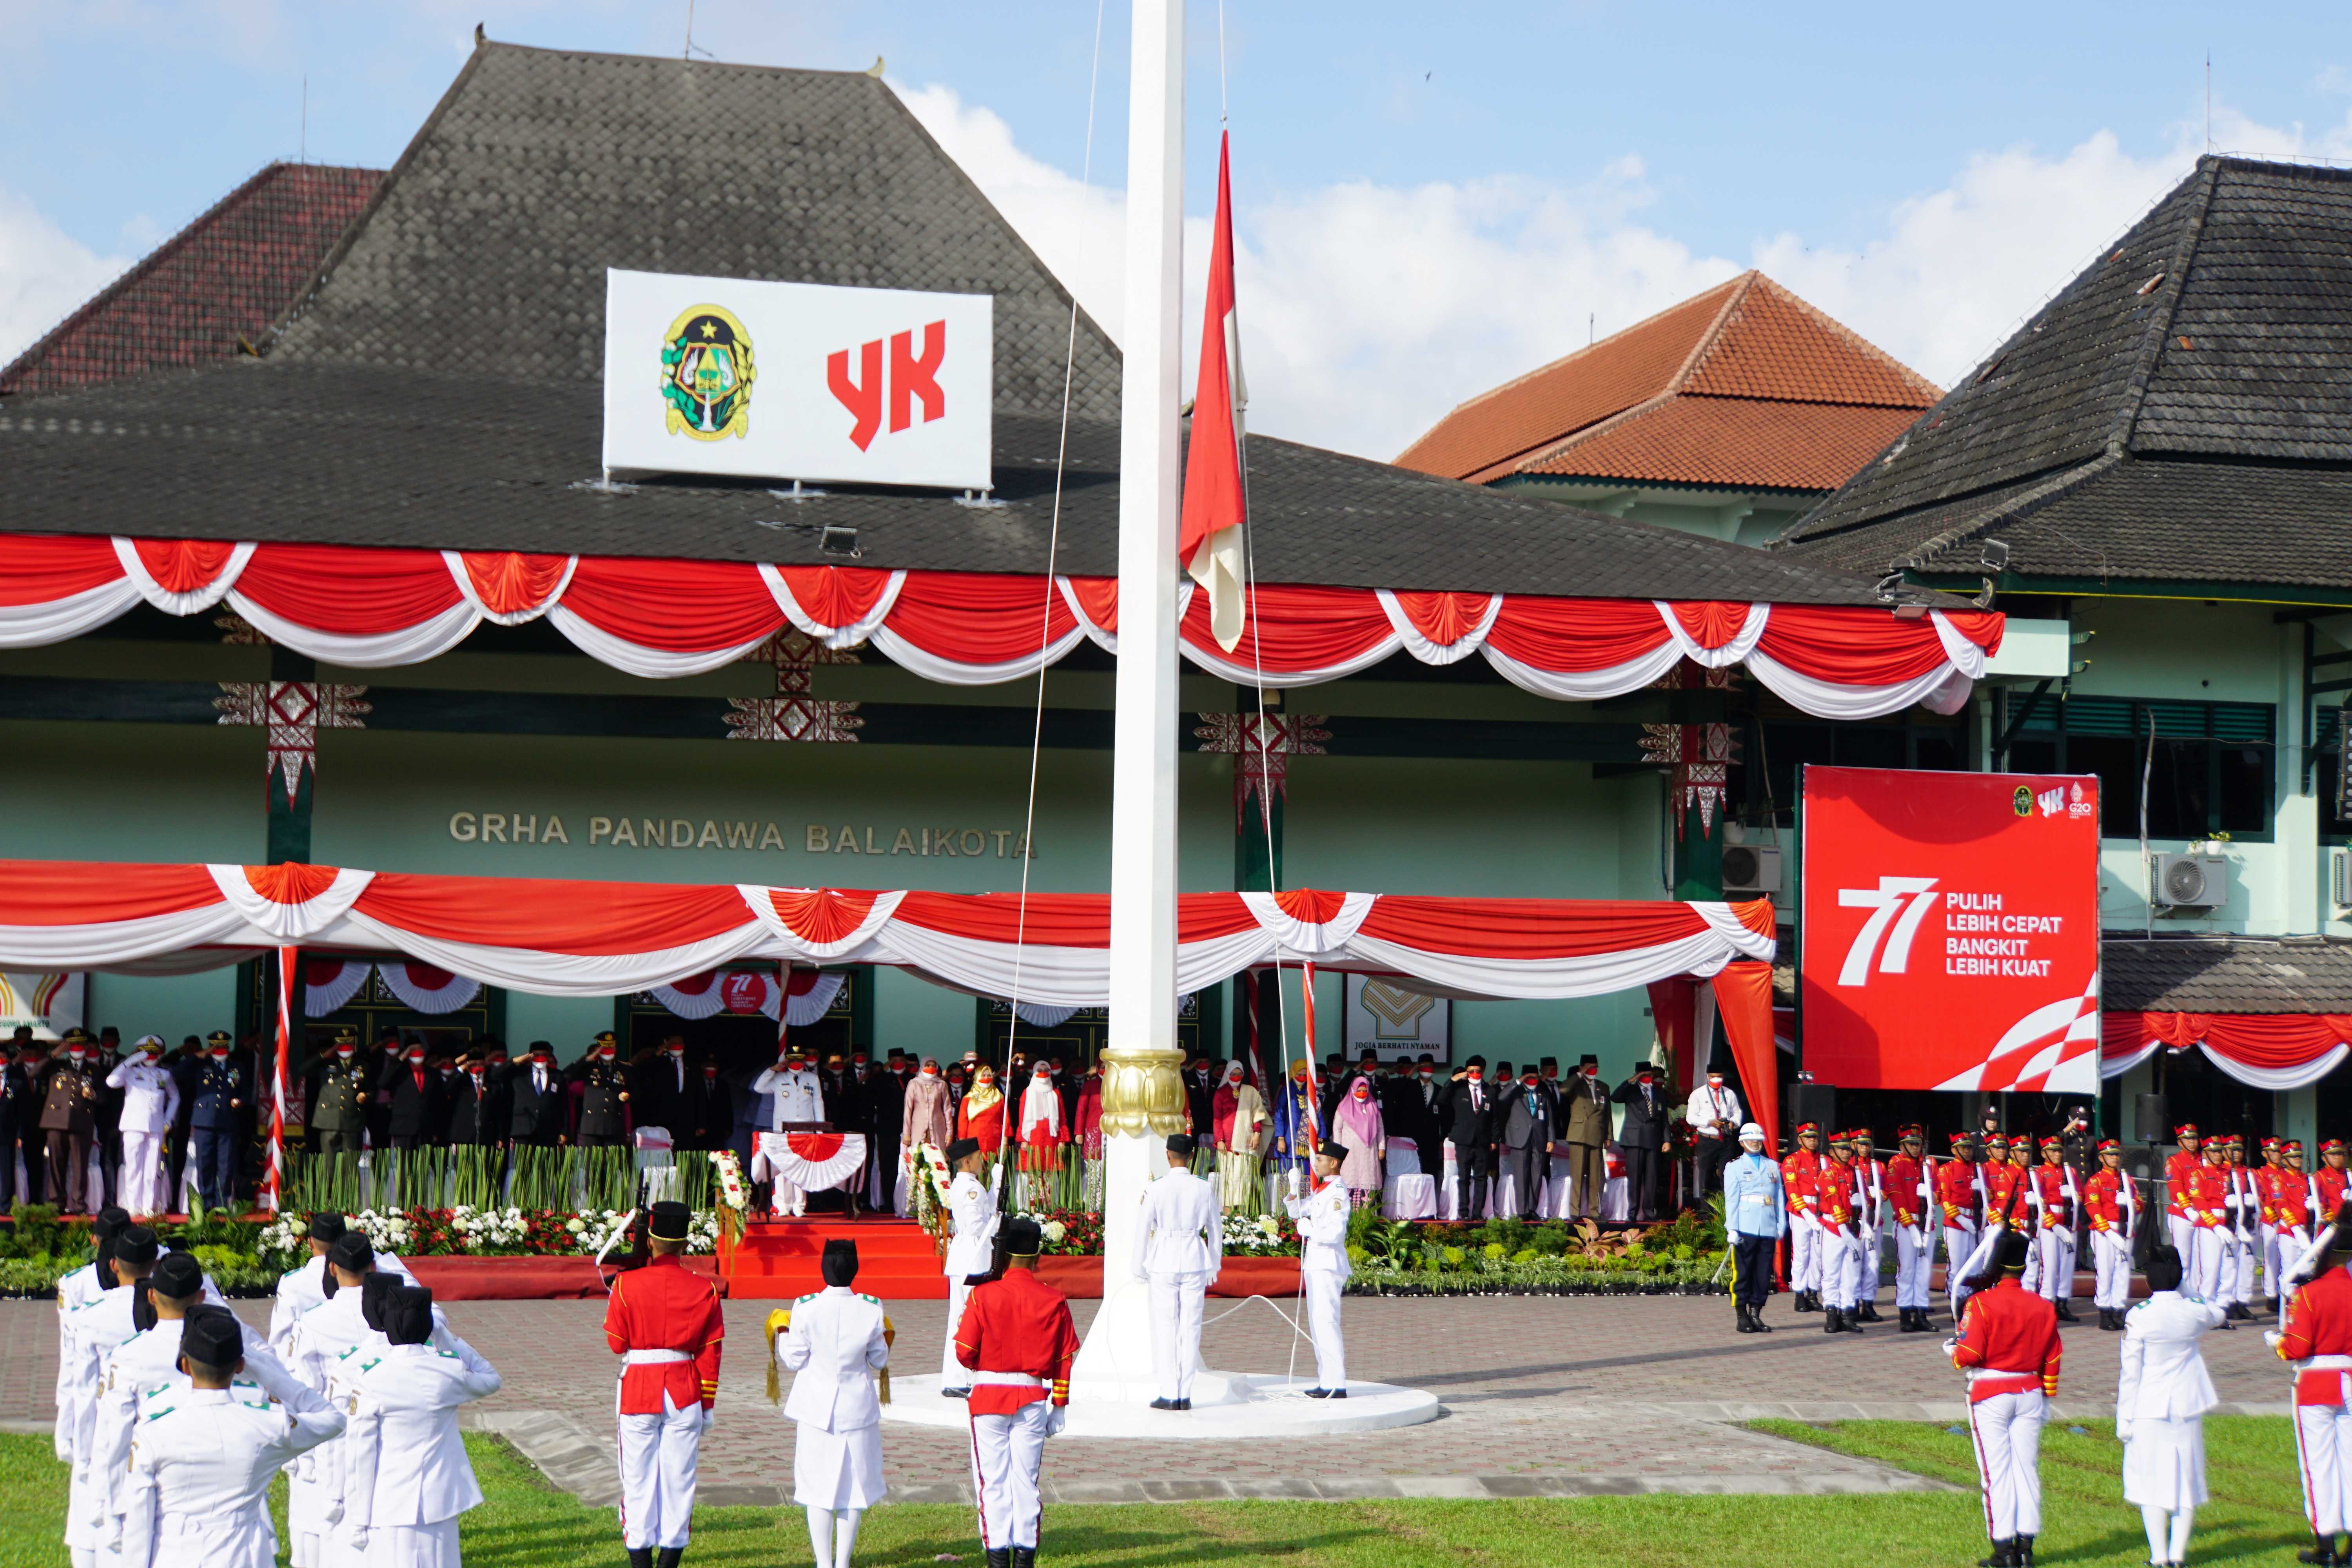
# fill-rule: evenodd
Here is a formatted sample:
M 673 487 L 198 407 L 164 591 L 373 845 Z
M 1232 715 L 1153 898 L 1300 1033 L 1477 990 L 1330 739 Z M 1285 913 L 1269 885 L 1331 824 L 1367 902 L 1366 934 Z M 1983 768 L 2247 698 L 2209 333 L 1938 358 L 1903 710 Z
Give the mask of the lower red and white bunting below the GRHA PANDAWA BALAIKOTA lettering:
M 555 893 L 555 896 L 550 896 Z M 0 860 L 0 969 L 181 973 L 268 947 L 381 952 L 548 997 L 677 987 L 739 959 L 889 964 L 978 997 L 1103 1006 L 1110 898 L 501 882 L 332 865 Z M 1277 957 L 1449 997 L 1595 997 L 1773 954 L 1769 903 L 1185 893 L 1176 987 Z

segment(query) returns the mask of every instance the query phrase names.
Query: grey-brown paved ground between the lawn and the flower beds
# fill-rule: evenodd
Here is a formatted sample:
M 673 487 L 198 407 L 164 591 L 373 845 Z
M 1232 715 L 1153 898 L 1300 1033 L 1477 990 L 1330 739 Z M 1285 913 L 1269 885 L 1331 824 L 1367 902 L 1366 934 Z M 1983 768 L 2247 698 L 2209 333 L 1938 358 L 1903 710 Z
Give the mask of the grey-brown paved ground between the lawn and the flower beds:
M 1943 1335 L 1825 1335 L 1776 1298 L 1773 1335 L 1731 1333 L 1719 1298 L 1350 1300 L 1348 1371 L 1435 1392 L 1423 1427 L 1334 1436 L 1305 1450 L 1176 1441 L 1056 1441 L 1047 1476 L 1061 1502 L 1237 1495 L 1588 1495 L 1825 1493 L 1931 1483 L 1745 1432 L 1731 1422 L 1896 1418 L 1957 1420 L 1959 1378 Z M 1291 1328 L 1265 1302 L 1209 1302 L 1211 1366 L 1279 1373 Z M 1284 1305 L 1287 1307 L 1287 1305 Z M 252 1324 L 261 1302 L 242 1302 Z M 597 1302 L 452 1302 L 452 1326 L 506 1373 L 475 1406 L 550 1476 L 595 1502 L 614 1493 L 612 1354 Z M 769 1505 L 790 1493 L 790 1425 L 767 1403 L 760 1324 L 769 1302 L 731 1302 L 720 1420 L 703 1439 L 710 1502 Z M 1080 1331 L 1094 1302 L 1073 1302 Z M 891 1307 L 908 1373 L 938 1371 L 943 1302 Z M 2258 1328 L 2258 1326 L 2253 1326 Z M 2206 1338 L 2225 1408 L 2284 1413 L 2284 1368 L 2258 1331 Z M 2060 1418 L 2112 1415 L 2119 1335 L 2065 1331 Z M 47 1425 L 56 1324 L 47 1302 L 0 1302 L 0 1425 Z M 1312 1368 L 1298 1342 L 1301 1368 Z M 953 1432 L 884 1427 L 891 1490 L 903 1502 L 969 1497 L 967 1443 Z

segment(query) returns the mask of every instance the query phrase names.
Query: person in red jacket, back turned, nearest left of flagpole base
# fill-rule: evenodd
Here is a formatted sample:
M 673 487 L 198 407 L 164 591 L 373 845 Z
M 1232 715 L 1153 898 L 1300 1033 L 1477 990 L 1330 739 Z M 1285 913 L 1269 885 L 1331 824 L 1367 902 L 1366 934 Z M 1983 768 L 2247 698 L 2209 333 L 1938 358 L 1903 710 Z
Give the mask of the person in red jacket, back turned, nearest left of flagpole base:
M 1037 1279 L 1037 1220 L 997 1232 L 997 1279 L 971 1288 L 955 1326 L 955 1359 L 971 1371 L 971 1493 L 981 1505 L 988 1568 L 1033 1568 L 1044 1505 L 1044 1439 L 1070 1408 L 1077 1326 L 1061 1291 Z

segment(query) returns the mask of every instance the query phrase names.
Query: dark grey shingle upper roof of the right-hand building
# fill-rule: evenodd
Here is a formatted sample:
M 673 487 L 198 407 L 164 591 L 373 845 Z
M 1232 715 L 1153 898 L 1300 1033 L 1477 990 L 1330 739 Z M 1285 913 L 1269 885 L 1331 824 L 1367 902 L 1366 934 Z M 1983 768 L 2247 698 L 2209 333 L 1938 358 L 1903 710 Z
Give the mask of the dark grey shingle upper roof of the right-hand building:
M 1780 548 L 1936 574 L 2002 538 L 2023 578 L 2352 588 L 2338 473 L 2352 169 L 2201 158 Z

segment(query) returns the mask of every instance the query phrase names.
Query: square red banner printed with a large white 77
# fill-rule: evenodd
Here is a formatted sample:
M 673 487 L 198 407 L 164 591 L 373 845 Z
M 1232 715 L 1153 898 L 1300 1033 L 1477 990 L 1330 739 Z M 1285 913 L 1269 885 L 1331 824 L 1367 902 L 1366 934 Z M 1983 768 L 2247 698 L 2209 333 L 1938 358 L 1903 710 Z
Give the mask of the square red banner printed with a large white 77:
M 2098 1091 L 2098 780 L 1804 771 L 1804 1065 Z

